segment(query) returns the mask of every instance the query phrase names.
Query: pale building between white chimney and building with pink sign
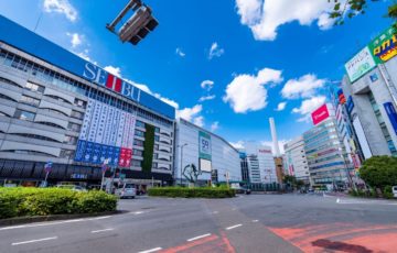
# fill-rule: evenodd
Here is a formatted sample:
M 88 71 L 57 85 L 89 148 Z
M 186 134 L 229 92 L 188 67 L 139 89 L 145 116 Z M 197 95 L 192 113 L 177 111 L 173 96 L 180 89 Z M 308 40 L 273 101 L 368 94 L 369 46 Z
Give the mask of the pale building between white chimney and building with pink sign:
M 285 170 L 298 180 L 309 184 L 309 164 L 304 152 L 303 136 L 296 138 L 285 144 Z

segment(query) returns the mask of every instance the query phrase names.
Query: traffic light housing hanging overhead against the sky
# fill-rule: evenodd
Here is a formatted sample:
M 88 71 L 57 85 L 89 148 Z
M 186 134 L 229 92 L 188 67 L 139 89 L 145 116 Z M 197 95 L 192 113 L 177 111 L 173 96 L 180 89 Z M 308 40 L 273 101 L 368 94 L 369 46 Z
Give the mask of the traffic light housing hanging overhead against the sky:
M 122 22 L 122 18 L 132 10 L 133 14 Z M 120 23 L 120 29 L 116 26 Z M 130 42 L 132 45 L 137 45 L 143 40 L 149 32 L 152 32 L 159 22 L 153 18 L 152 10 L 146 6 L 141 0 L 130 0 L 128 4 L 121 10 L 116 19 L 107 24 L 106 28 L 118 35 L 122 43 Z

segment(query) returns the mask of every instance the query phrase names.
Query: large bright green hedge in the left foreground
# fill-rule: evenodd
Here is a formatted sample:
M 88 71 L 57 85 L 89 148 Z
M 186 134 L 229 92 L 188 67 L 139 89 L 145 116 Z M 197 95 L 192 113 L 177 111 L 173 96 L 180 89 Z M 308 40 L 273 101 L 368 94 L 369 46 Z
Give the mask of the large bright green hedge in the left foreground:
M 0 188 L 0 219 L 115 211 L 117 198 L 104 191 L 58 188 Z

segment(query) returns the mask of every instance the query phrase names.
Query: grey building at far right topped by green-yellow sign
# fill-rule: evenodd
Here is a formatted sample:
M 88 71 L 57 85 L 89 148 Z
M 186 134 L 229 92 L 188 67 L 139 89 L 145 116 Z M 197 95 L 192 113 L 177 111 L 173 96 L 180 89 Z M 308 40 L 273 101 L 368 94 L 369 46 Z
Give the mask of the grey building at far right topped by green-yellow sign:
M 364 158 L 397 155 L 397 35 L 375 37 L 345 64 L 346 108 Z

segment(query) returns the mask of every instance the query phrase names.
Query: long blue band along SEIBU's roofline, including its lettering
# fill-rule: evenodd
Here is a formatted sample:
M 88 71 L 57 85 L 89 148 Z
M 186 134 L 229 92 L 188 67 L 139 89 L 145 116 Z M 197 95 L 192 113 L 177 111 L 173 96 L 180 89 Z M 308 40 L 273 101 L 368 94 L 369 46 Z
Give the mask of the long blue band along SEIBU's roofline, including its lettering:
M 2 15 L 0 15 L 0 31 L 1 42 L 14 46 L 30 55 L 34 55 L 37 58 L 98 86 L 103 86 L 104 88 L 135 100 L 169 119 L 175 119 L 175 108 L 170 105 Z

